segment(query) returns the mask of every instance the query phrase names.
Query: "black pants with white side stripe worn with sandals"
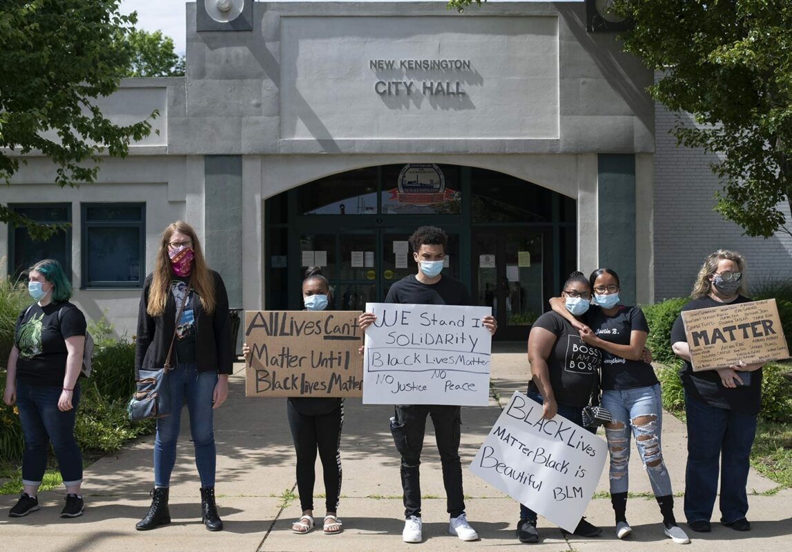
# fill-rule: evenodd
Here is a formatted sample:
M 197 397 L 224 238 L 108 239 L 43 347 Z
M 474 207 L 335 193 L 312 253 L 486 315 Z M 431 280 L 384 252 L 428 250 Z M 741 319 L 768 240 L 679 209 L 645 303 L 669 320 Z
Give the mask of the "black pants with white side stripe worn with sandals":
M 307 416 L 287 401 L 291 439 L 297 453 L 297 491 L 300 507 L 314 509 L 316 451 L 322 459 L 325 480 L 325 504 L 328 512 L 337 512 L 341 494 L 341 428 L 344 426 L 344 403 L 319 416 Z

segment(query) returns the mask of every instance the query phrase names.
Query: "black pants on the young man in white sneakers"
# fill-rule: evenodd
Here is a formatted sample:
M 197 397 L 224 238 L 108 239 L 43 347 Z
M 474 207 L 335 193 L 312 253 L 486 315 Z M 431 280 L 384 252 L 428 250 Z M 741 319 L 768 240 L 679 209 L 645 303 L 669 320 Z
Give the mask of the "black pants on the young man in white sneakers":
M 462 426 L 459 406 L 398 405 L 390 432 L 402 455 L 402 491 L 404 515 L 421 516 L 421 449 L 424 447 L 426 417 L 435 426 L 437 451 L 443 466 L 443 485 L 446 490 L 447 512 L 451 517 L 465 512 L 462 489 L 462 462 L 459 460 L 459 434 Z

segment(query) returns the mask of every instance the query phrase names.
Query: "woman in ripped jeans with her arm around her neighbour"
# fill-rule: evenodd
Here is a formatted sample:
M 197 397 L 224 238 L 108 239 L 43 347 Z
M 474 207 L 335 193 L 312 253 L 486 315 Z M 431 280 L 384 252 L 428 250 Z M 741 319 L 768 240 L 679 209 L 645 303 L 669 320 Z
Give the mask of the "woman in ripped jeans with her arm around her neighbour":
M 573 321 L 573 326 L 588 345 L 603 352 L 602 405 L 613 420 L 605 424 L 607 447 L 611 455 L 609 479 L 611 504 L 616 518 L 616 535 L 625 539 L 632 533 L 626 520 L 630 438 L 635 437 L 638 453 L 657 504 L 663 516 L 664 535 L 677 544 L 690 539 L 674 518 L 671 478 L 661 448 L 663 406 L 660 383 L 651 364 L 642 361 L 649 325 L 640 308 L 619 304 L 619 276 L 610 268 L 598 268 L 588 278 L 594 291 L 592 308 Z M 551 301 L 554 310 L 558 299 Z M 569 317 L 567 317 L 569 318 Z

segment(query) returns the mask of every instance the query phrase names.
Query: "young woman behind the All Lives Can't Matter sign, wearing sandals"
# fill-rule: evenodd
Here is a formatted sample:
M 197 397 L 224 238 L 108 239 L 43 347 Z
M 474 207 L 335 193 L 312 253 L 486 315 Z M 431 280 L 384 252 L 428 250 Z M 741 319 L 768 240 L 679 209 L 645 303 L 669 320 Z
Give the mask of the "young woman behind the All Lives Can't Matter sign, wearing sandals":
M 306 310 L 325 310 L 331 299 L 330 286 L 322 269 L 312 266 L 303 280 L 303 305 Z M 249 359 L 250 348 L 242 345 Z M 314 482 L 316 452 L 322 459 L 327 513 L 322 531 L 341 532 L 338 497 L 341 495 L 341 428 L 344 427 L 344 399 L 336 397 L 289 397 L 286 403 L 291 439 L 297 454 L 297 490 L 303 515 L 291 525 L 291 532 L 303 535 L 314 528 Z

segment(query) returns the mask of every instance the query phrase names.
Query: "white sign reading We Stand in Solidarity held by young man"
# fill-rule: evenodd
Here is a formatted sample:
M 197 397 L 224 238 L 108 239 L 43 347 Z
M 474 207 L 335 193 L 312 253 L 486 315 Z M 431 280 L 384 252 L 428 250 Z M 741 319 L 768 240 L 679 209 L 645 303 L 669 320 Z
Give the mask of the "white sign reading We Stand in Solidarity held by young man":
M 485 306 L 366 303 L 363 402 L 473 405 L 489 402 L 492 335 Z

